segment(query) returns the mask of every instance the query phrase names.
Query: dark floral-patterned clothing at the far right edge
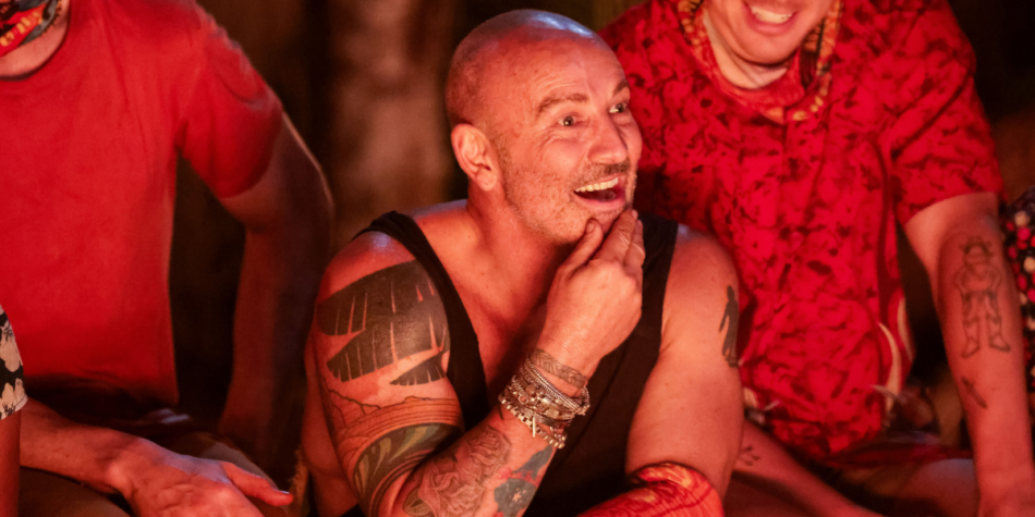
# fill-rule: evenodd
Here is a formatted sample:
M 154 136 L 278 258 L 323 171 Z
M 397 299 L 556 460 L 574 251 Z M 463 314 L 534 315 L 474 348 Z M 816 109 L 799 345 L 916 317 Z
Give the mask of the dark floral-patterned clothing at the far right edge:
M 1035 187 L 1028 188 L 1002 212 L 1007 260 L 1013 268 L 1021 296 L 1025 340 L 1024 365 L 1027 392 L 1035 393 Z

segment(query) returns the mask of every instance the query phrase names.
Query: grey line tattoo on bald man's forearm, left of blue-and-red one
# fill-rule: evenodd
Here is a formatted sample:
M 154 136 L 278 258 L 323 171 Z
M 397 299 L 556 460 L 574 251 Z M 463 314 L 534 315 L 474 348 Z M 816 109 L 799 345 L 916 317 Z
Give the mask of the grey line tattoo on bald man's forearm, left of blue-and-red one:
M 485 498 L 486 484 L 507 464 L 509 453 L 510 442 L 503 433 L 487 426 L 475 428 L 446 454 L 424 466 L 403 509 L 415 517 L 473 514 Z

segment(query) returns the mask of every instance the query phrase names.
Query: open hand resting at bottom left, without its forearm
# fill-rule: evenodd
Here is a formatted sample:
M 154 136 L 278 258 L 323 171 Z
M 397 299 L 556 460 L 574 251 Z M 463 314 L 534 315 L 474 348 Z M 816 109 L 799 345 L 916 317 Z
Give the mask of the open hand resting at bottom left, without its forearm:
M 155 448 L 137 459 L 143 461 L 123 473 L 119 492 L 139 517 L 261 517 L 248 497 L 271 506 L 291 503 L 265 478 L 226 461 Z

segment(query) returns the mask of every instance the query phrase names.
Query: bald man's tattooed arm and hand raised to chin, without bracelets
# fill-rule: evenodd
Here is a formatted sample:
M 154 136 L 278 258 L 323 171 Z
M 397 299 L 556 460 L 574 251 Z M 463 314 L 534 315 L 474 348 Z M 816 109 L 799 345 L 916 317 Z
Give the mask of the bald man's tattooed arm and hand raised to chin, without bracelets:
M 536 342 L 552 365 L 543 374 L 569 395 L 640 316 L 642 226 L 625 212 L 604 241 L 590 222 L 557 272 Z M 464 429 L 445 376 L 443 310 L 424 269 L 382 235 L 357 238 L 325 278 L 310 340 L 324 413 L 370 517 L 521 515 L 553 456 L 501 405 Z

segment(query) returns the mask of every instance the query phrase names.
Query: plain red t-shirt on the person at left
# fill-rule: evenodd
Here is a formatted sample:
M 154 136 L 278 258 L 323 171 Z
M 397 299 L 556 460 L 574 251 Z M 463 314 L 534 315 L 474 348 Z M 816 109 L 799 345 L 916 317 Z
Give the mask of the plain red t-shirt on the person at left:
M 246 190 L 280 102 L 191 0 L 73 0 L 70 14 L 49 62 L 0 82 L 0 303 L 29 394 L 173 405 L 176 155 L 217 196 Z

